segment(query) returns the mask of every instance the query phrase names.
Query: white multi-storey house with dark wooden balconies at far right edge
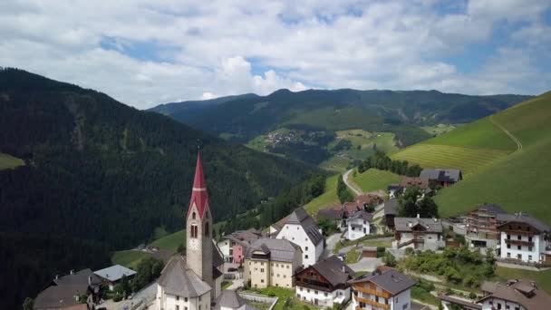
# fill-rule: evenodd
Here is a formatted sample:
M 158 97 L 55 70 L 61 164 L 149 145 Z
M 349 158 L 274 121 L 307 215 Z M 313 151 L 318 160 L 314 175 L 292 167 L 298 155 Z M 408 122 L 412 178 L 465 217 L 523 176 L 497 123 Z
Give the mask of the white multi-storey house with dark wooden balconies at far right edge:
M 521 212 L 498 214 L 499 257 L 524 263 L 551 265 L 549 228 Z

